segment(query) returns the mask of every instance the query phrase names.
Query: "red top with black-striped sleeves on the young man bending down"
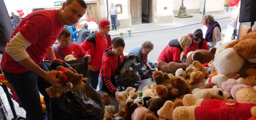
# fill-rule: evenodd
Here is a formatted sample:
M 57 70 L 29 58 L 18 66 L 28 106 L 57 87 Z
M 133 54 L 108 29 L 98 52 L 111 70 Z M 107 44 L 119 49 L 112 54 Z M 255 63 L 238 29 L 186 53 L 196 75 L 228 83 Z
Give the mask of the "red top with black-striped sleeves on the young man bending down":
M 112 55 L 111 53 L 112 47 L 108 49 L 108 52 L 110 55 L 106 55 L 104 52 L 104 56 L 102 57 L 102 67 L 103 69 L 103 76 L 104 76 L 104 82 L 106 83 L 106 86 L 108 87 L 109 91 L 111 93 L 116 92 L 116 88 L 110 81 L 110 77 L 114 76 L 114 73 L 116 72 L 116 69 L 123 63 L 124 60 L 124 54 L 121 55 Z M 118 64 L 118 57 L 119 57 L 119 64 Z M 102 79 L 101 75 L 102 71 L 99 72 L 99 76 Z

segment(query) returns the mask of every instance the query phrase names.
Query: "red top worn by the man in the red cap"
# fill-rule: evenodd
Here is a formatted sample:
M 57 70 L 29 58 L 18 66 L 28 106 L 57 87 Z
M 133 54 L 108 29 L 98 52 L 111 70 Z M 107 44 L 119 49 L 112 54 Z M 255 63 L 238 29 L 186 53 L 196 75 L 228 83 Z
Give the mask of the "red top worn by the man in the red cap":
M 105 38 L 106 40 L 103 40 Z M 95 66 L 95 71 L 99 71 L 101 69 L 103 52 L 105 51 L 105 49 L 110 47 L 111 44 L 111 40 L 107 36 L 103 36 L 103 39 L 98 34 L 98 32 L 96 32 L 96 46 L 94 46 L 93 43 L 87 40 L 79 44 L 84 49 L 84 51 L 87 52 L 87 54 L 91 55 L 91 61 L 89 65 Z

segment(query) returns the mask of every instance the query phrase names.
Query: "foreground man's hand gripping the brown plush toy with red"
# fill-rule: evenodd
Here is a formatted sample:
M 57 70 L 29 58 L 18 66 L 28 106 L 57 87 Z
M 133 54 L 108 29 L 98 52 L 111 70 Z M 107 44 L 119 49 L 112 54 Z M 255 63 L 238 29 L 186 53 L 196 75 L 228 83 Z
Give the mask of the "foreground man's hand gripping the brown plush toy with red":
M 48 78 L 47 78 L 47 75 L 46 75 L 45 79 L 47 79 L 47 81 L 50 84 L 53 84 L 54 87 L 60 87 L 61 84 L 58 83 L 60 81 L 60 79 L 56 78 L 56 75 L 61 74 L 61 73 L 62 73 L 61 71 L 49 72 L 49 73 L 47 73 L 48 74 Z

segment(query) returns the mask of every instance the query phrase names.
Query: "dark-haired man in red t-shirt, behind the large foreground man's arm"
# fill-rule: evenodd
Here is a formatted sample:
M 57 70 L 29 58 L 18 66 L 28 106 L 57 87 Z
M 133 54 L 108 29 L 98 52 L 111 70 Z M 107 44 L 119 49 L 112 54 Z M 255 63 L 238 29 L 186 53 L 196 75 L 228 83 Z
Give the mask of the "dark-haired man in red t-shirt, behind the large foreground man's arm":
M 58 51 L 56 51 L 56 47 L 53 48 L 54 55 L 57 59 L 65 61 L 65 56 L 70 54 L 73 55 L 76 59 L 80 59 L 86 55 L 86 52 L 83 50 L 82 47 L 80 47 L 76 43 L 71 43 L 71 32 L 68 28 L 64 27 L 62 29 L 57 40 L 59 41 L 59 44 L 56 47 L 61 52 L 59 53 Z M 88 55 L 88 57 L 90 61 L 90 55 Z M 44 60 L 49 60 L 49 58 L 46 56 Z

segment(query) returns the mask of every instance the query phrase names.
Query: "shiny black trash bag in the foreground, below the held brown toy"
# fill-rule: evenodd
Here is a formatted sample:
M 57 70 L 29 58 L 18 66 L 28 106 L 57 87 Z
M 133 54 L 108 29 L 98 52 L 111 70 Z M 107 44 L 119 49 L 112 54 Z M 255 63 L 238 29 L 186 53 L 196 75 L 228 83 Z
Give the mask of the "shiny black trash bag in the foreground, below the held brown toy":
M 59 98 L 50 99 L 51 120 L 102 120 L 105 103 L 101 95 L 84 81 L 83 91 L 73 87 Z

